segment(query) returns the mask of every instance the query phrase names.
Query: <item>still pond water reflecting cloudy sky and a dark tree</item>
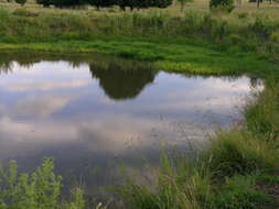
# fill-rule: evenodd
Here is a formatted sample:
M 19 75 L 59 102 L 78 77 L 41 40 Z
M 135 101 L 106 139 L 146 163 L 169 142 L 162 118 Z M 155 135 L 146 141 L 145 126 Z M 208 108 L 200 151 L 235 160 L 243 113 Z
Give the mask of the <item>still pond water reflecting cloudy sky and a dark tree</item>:
M 141 172 L 158 164 L 161 144 L 186 148 L 240 120 L 255 82 L 98 57 L 18 59 L 0 63 L 0 160 L 29 170 L 52 156 L 64 184 L 87 187 L 114 184 L 115 161 Z

